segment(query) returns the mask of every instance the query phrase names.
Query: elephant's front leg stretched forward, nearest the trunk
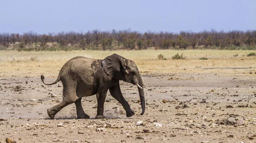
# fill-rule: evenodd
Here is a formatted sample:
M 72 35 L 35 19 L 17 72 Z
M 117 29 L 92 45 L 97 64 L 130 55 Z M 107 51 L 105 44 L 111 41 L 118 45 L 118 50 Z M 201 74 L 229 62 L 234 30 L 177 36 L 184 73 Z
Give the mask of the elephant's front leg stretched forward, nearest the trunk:
M 119 101 L 122 104 L 122 107 L 126 111 L 126 117 L 131 117 L 132 115 L 134 115 L 134 112 L 131 110 L 130 105 L 128 104 L 128 102 L 125 100 L 125 98 L 122 95 L 119 82 L 115 86 L 111 87 L 109 89 L 109 91 L 110 91 L 110 94 L 112 95 L 112 97 L 115 98 L 117 101 Z

